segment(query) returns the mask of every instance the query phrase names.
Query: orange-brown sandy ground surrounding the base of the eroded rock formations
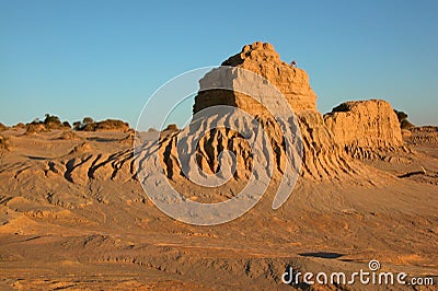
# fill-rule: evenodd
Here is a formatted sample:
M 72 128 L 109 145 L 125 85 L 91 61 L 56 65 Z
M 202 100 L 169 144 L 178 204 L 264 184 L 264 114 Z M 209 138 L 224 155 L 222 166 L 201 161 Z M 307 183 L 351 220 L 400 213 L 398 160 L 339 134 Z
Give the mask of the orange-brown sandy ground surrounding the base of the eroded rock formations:
M 123 132 L 9 137 L 0 172 L 0 288 L 8 289 L 376 289 L 287 286 L 302 272 L 368 269 L 434 277 L 438 283 L 438 147 L 364 161 L 361 179 L 300 179 L 288 201 L 265 195 L 250 212 L 194 226 L 160 212 L 127 165 Z M 87 141 L 87 147 L 77 146 Z M 126 159 L 125 159 L 126 158 Z M 108 171 L 119 168 L 119 171 Z M 410 173 L 423 171 L 426 173 Z M 106 168 L 106 170 L 105 170 Z

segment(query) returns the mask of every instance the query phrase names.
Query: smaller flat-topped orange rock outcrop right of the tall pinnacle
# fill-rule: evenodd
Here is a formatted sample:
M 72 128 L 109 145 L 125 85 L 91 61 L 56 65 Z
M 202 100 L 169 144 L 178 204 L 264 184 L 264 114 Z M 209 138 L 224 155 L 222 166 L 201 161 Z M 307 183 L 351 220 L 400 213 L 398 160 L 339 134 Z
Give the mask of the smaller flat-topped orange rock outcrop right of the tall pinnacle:
M 336 143 L 354 158 L 373 158 L 403 148 L 400 123 L 382 100 L 350 101 L 324 115 Z

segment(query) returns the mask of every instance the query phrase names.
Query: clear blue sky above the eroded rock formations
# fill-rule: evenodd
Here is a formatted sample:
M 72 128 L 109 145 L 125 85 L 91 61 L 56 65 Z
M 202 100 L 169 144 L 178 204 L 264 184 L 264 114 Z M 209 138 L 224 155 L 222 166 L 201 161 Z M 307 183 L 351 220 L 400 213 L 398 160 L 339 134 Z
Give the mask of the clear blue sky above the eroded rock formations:
M 308 71 L 322 113 L 380 97 L 437 125 L 437 35 L 435 0 L 0 0 L 0 121 L 134 126 L 171 78 L 263 40 Z

